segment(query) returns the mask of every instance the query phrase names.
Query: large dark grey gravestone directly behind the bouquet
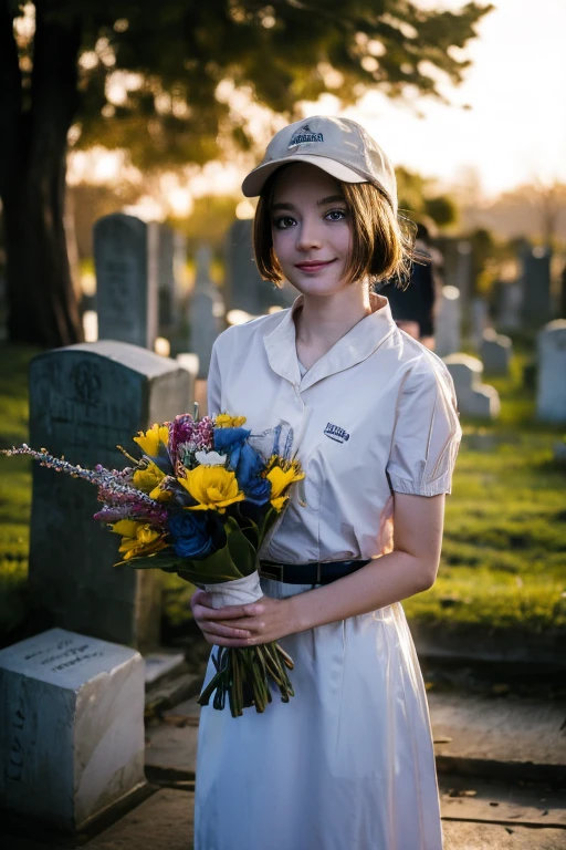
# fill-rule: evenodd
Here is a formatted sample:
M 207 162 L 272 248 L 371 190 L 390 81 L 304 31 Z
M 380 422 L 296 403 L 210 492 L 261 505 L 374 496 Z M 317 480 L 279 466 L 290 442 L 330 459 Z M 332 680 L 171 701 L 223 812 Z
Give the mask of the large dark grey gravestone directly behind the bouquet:
M 190 379 L 167 357 L 118 342 L 56 349 L 30 366 L 30 444 L 73 464 L 124 468 L 124 446 L 192 410 Z M 33 466 L 29 587 L 54 625 L 140 650 L 158 643 L 160 573 L 115 568 L 119 537 L 93 519 L 96 488 Z

